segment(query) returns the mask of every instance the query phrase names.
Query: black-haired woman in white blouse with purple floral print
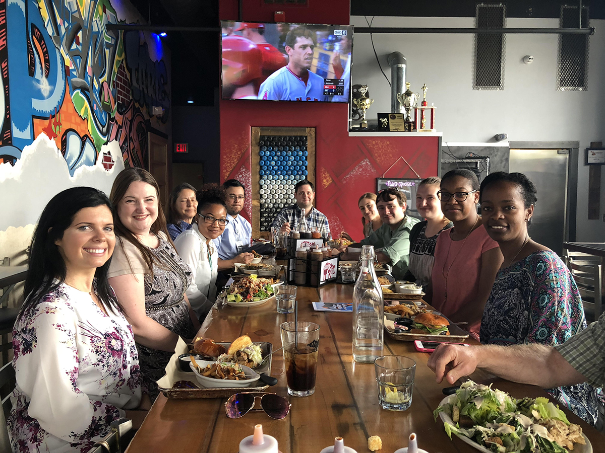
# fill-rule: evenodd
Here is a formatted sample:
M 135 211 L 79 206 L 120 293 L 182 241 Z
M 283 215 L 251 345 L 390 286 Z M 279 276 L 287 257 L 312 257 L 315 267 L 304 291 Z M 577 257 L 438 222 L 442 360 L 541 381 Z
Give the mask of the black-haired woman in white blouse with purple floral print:
M 42 212 L 13 330 L 15 452 L 87 452 L 114 420 L 145 417 L 134 336 L 107 283 L 115 243 L 94 188 L 64 190 Z

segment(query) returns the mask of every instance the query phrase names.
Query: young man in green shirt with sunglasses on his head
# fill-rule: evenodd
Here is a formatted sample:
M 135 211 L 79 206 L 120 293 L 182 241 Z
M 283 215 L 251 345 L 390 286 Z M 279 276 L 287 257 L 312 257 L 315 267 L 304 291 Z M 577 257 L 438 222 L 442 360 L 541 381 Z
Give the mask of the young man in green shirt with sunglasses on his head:
M 405 193 L 391 187 L 379 191 L 376 199 L 376 208 L 382 220 L 382 226 L 374 231 L 367 239 L 351 245 L 373 245 L 376 259 L 379 263 L 393 266 L 393 277 L 404 278 L 408 271 L 410 259 L 410 231 L 418 219 L 405 215 L 407 208 Z M 354 256 L 357 255 L 357 256 Z M 348 253 L 341 259 L 359 259 L 359 254 Z

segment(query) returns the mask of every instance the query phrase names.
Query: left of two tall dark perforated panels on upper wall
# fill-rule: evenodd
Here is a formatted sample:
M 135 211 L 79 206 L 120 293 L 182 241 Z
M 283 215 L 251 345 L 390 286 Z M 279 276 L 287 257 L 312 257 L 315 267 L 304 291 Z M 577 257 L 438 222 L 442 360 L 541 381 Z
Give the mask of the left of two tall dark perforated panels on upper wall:
M 505 28 L 506 6 L 477 4 L 476 28 Z M 504 89 L 505 34 L 475 35 L 473 89 Z

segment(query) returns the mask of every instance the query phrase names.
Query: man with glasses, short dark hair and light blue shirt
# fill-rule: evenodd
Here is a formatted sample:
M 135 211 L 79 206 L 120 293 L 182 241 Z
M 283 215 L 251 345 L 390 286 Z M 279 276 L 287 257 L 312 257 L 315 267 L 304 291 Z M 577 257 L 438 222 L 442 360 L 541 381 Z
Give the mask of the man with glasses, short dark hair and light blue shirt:
M 223 183 L 227 194 L 227 226 L 221 236 L 214 239 L 218 250 L 218 270 L 231 269 L 235 263 L 250 263 L 253 254 L 242 252 L 250 246 L 252 237 L 252 225 L 240 215 L 246 200 L 244 185 L 237 179 L 228 179 Z

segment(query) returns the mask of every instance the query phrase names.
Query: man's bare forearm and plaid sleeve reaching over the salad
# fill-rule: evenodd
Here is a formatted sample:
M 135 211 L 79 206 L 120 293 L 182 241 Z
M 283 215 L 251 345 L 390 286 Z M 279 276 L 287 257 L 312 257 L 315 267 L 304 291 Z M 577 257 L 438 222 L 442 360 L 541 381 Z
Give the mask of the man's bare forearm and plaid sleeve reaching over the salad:
M 554 388 L 588 382 L 605 385 L 605 313 L 563 344 L 518 344 L 463 347 L 439 345 L 428 359 L 428 367 L 450 384 L 468 376 L 475 368 L 524 384 Z

